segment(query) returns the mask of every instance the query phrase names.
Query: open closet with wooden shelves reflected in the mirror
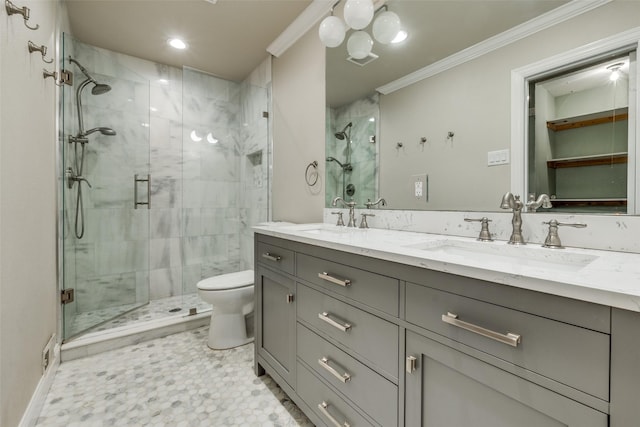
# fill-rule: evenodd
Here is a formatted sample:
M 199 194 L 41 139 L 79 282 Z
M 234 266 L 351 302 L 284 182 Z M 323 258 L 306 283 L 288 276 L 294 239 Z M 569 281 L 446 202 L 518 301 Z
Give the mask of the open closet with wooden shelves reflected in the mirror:
M 627 212 L 630 54 L 529 80 L 528 200 L 553 210 Z

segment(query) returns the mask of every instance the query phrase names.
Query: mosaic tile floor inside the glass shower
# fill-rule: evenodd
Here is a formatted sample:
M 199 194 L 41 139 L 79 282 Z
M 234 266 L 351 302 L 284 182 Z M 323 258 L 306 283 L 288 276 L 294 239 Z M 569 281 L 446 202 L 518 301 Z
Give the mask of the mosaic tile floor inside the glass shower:
M 131 307 L 134 307 L 133 305 Z M 84 331 L 97 325 L 87 332 L 105 331 L 107 329 L 127 326 L 137 322 L 145 322 L 147 320 L 164 319 L 171 316 L 184 316 L 189 312 L 189 308 L 195 307 L 198 313 L 210 310 L 211 304 L 202 301 L 197 293 L 179 295 L 175 297 L 162 298 L 150 301 L 140 308 L 127 311 L 127 307 L 113 307 L 103 310 L 93 310 L 77 314 L 70 325 L 70 335 L 75 335 L 75 331 Z M 171 312 L 170 310 L 181 308 L 180 311 Z M 117 316 L 116 318 L 114 318 Z

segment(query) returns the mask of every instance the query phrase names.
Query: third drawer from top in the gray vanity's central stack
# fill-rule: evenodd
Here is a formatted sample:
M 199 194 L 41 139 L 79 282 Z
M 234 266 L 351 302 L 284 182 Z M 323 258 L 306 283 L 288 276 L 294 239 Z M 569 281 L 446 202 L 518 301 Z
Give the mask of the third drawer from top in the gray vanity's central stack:
M 324 340 L 297 326 L 298 359 L 383 426 L 398 425 L 398 387 Z

